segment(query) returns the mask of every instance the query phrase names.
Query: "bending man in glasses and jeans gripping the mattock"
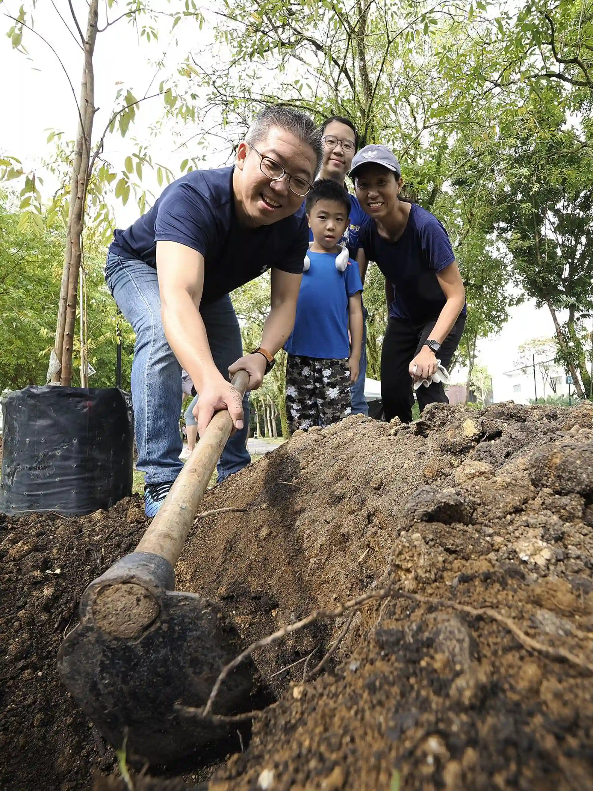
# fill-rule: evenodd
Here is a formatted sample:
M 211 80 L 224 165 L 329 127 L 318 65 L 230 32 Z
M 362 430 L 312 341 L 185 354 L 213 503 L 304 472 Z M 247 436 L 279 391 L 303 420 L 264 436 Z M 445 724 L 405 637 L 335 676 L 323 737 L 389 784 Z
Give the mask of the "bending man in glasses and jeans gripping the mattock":
M 108 288 L 136 333 L 132 397 L 145 512 L 154 516 L 179 461 L 181 366 L 198 392 L 202 433 L 228 409 L 236 433 L 218 464 L 224 479 L 250 462 L 247 397 L 229 381 L 245 369 L 262 384 L 293 329 L 308 225 L 301 204 L 321 164 L 312 120 L 290 108 L 256 116 L 230 168 L 187 173 L 108 252 Z M 257 350 L 243 356 L 229 292 L 271 268 L 270 314 Z

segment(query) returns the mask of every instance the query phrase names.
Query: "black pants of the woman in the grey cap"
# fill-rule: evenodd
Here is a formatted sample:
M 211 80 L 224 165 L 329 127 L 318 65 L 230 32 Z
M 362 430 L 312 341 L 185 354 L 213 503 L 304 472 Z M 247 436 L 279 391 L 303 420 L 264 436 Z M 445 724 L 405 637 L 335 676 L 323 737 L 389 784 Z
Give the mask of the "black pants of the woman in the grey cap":
M 408 319 L 394 319 L 391 316 L 387 322 L 387 331 L 381 352 L 381 399 L 383 400 L 385 418 L 388 421 L 395 417 L 404 423 L 409 423 L 412 420 L 413 380 L 408 369 L 410 362 L 424 346 L 425 340 L 429 337 L 435 324 L 436 320 L 417 323 Z M 459 346 L 465 324 L 466 317 L 459 316 L 436 355 L 445 368 L 448 368 L 451 358 Z M 416 397 L 420 411 L 429 403 L 449 403 L 440 382 L 438 384 L 432 382 L 428 388 L 422 384 L 416 391 Z

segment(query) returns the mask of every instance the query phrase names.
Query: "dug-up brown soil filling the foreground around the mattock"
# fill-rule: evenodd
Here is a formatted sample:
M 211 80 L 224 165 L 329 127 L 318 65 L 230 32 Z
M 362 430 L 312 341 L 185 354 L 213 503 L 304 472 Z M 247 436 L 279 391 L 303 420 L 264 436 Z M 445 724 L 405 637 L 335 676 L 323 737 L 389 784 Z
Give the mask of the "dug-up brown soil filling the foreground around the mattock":
M 198 520 L 178 587 L 217 600 L 246 644 L 384 597 L 255 653 L 278 702 L 243 752 L 237 737 L 134 787 L 593 789 L 592 451 L 590 403 L 432 405 L 410 427 L 357 416 L 297 433 L 215 487 L 204 510 L 240 510 Z M 59 686 L 55 653 L 85 582 L 145 520 L 134 499 L 0 518 L 0 788 L 88 789 L 113 754 Z

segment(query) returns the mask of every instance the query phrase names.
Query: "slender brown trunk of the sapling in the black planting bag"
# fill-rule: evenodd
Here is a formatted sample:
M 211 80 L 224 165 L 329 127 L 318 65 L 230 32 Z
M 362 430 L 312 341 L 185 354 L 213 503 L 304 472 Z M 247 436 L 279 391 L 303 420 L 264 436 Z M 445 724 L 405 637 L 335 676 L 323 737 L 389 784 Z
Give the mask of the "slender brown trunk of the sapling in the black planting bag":
M 93 118 L 95 115 L 95 86 L 93 74 L 93 54 L 97 34 L 99 0 L 89 0 L 89 17 L 84 44 L 85 65 L 81 78 L 80 117 L 72 179 L 70 181 L 70 206 L 66 229 L 66 249 L 62 286 L 60 288 L 58 322 L 55 332 L 54 353 L 60 365 L 51 381 L 70 386 L 72 380 L 72 349 L 78 292 L 78 272 L 81 264 L 81 236 L 85 223 L 86 190 L 89 183 L 89 161 Z M 55 361 L 54 361 L 55 362 Z

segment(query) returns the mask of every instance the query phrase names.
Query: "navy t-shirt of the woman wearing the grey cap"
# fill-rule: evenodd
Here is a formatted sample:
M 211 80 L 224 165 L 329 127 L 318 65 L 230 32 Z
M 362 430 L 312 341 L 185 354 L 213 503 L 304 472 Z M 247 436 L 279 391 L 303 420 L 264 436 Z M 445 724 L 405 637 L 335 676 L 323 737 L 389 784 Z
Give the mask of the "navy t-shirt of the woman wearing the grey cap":
M 376 221 L 365 216 L 358 233 L 368 260 L 375 261 L 394 286 L 389 315 L 412 321 L 436 320 L 447 297 L 436 273 L 455 261 L 455 253 L 444 226 L 417 203 L 396 242 L 380 237 Z M 466 307 L 463 306 L 463 314 Z

